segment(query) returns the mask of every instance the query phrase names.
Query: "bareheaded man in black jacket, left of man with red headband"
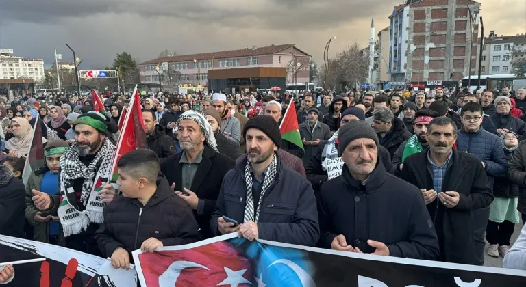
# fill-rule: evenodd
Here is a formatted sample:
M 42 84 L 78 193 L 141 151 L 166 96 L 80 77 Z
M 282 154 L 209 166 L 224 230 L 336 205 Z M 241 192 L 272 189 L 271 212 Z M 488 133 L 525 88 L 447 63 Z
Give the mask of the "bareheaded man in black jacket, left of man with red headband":
M 391 159 L 395 156 L 397 148 L 411 137 L 405 124 L 395 117 L 386 107 L 379 107 L 373 111 L 373 124 L 371 125 L 378 135 L 379 143 L 389 151 Z

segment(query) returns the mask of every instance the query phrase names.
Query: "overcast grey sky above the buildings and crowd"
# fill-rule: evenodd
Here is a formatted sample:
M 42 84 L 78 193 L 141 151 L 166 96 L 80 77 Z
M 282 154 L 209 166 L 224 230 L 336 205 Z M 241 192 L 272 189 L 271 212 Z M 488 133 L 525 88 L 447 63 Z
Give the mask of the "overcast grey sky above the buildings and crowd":
M 84 59 L 83 68 L 111 66 L 127 51 L 140 61 L 164 49 L 179 54 L 297 44 L 320 63 L 358 42 L 365 47 L 371 15 L 376 32 L 388 26 L 395 5 L 405 0 L 0 0 L 0 47 L 41 58 L 53 49 Z M 526 32 L 525 0 L 479 0 L 486 35 Z

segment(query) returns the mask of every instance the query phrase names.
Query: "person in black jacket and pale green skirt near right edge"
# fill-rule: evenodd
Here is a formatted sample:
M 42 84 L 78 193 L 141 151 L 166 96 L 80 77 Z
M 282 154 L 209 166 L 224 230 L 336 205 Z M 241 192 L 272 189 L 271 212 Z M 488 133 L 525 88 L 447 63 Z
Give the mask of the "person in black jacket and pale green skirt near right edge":
M 512 131 L 501 135 L 505 161 L 510 161 L 518 146 L 518 135 Z M 490 216 L 486 228 L 486 240 L 490 243 L 488 254 L 493 257 L 503 257 L 510 250 L 510 238 L 515 230 L 518 219 L 518 185 L 506 178 L 506 172 L 494 179 L 494 200 L 490 205 Z

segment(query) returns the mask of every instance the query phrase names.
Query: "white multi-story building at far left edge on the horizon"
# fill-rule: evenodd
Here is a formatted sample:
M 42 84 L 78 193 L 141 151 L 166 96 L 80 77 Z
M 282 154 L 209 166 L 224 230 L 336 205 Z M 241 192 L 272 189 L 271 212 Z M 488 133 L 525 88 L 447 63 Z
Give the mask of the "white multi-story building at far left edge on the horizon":
M 44 79 L 44 60 L 23 59 L 12 49 L 0 49 L 0 79 Z

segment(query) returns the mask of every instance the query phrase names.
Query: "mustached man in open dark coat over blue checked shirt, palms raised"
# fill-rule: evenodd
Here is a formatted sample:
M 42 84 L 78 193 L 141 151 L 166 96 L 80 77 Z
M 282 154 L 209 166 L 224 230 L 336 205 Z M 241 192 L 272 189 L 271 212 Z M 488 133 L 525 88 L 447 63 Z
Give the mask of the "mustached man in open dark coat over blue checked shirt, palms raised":
M 453 148 L 457 137 L 450 118 L 431 120 L 429 148 L 405 159 L 401 178 L 421 189 L 440 243 L 435 259 L 478 264 L 474 211 L 490 206 L 493 195 L 481 161 Z

